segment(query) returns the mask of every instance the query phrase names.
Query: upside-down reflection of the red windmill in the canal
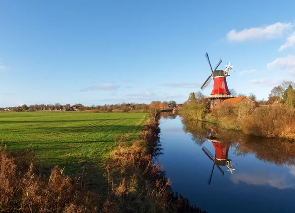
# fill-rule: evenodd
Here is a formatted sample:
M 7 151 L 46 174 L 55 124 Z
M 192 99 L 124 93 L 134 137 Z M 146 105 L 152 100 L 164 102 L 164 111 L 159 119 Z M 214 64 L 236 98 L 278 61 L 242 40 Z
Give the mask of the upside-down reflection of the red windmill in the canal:
M 211 134 L 207 139 L 212 142 L 215 150 L 215 156 L 205 147 L 203 146 L 202 151 L 207 155 L 207 157 L 213 161 L 213 167 L 211 170 L 211 174 L 208 179 L 208 184 L 210 185 L 212 180 L 213 171 L 215 168 L 215 165 L 222 176 L 224 176 L 224 171 L 220 168 L 220 166 L 227 166 L 228 172 L 233 174 L 235 171 L 234 166 L 232 164 L 232 160 L 228 158 L 229 149 L 231 144 L 219 140 L 219 138 L 214 137 L 214 131 L 211 131 Z

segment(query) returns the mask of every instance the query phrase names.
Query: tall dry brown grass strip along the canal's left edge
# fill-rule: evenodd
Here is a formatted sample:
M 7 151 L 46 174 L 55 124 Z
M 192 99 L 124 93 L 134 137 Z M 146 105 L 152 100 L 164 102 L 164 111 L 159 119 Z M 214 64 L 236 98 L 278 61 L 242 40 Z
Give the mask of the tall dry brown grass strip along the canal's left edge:
M 176 209 L 169 203 L 170 180 L 152 160 L 158 143 L 158 123 L 149 122 L 140 140 L 131 147 L 119 145 L 111 153 L 105 177 L 109 183 L 107 213 L 168 213 Z

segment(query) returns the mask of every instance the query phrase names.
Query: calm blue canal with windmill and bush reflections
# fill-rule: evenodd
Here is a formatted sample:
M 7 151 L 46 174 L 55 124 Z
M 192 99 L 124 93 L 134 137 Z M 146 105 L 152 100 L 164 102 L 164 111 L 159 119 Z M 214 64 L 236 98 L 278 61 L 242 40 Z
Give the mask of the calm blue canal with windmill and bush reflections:
M 294 143 L 173 114 L 162 115 L 160 128 L 157 161 L 190 204 L 209 213 L 295 212 Z

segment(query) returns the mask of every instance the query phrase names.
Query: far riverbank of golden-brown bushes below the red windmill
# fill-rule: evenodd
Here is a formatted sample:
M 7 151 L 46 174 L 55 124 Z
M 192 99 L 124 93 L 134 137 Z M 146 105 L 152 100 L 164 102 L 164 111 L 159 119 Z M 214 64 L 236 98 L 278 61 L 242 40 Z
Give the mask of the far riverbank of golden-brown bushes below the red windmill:
M 283 104 L 254 109 L 240 103 L 211 112 L 203 104 L 191 103 L 183 105 L 179 114 L 191 122 L 211 122 L 249 135 L 295 140 L 295 110 Z

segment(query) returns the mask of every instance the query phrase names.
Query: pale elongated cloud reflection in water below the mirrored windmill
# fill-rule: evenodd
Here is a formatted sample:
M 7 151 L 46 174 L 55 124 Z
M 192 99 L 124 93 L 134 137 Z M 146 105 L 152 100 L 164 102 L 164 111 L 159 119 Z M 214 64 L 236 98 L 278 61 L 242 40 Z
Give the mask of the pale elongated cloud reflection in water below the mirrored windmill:
M 295 167 L 293 168 L 295 174 Z M 291 172 L 292 173 L 292 172 Z M 292 173 L 293 174 L 293 173 Z M 231 181 L 235 184 L 239 182 L 249 185 L 270 185 L 278 189 L 295 188 L 295 178 L 290 174 L 234 174 L 231 176 Z

